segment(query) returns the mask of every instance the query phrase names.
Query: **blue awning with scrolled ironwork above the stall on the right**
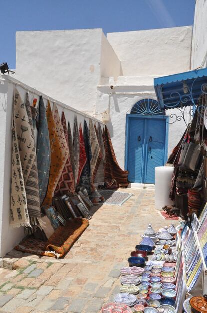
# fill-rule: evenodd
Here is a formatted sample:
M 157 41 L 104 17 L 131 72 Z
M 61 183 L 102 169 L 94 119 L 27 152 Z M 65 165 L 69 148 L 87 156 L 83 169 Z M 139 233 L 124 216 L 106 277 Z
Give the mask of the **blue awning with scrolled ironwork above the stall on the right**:
M 207 86 L 207 68 L 154 78 L 161 110 L 196 105 Z

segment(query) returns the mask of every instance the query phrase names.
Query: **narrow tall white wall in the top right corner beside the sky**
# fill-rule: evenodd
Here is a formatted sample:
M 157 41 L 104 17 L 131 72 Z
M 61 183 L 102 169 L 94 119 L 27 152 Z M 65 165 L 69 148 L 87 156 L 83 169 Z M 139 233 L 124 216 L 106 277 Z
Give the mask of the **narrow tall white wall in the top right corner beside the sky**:
M 207 1 L 197 0 L 192 37 L 191 69 L 207 67 Z

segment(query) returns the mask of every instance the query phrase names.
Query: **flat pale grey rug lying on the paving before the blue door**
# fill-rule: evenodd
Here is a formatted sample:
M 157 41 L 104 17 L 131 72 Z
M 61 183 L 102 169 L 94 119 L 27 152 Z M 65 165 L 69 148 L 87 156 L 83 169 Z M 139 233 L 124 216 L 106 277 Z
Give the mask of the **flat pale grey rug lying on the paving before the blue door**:
M 104 204 L 119 205 L 121 206 L 134 194 L 124 193 L 120 191 L 101 190 L 101 195 L 105 198 Z

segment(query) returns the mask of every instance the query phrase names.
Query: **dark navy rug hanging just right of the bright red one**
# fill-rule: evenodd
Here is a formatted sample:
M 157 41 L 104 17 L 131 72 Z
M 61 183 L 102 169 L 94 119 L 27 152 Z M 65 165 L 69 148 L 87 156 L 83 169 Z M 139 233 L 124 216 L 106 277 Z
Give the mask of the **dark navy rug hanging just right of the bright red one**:
M 89 138 L 89 130 L 87 127 L 87 122 L 84 120 L 84 144 L 85 144 L 85 152 L 87 156 L 86 164 L 82 170 L 82 174 L 80 176 L 80 185 L 87 189 L 88 194 L 91 194 L 91 176 L 90 176 L 90 160 L 92 158 L 91 147 L 90 147 L 90 138 Z

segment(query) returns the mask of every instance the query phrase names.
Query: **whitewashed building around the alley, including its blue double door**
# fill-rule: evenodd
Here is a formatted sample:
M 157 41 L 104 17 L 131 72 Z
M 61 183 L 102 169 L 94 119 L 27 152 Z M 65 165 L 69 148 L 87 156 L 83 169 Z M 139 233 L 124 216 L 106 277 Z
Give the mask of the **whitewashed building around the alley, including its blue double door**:
M 206 15 L 207 2 L 197 0 L 193 27 L 108 33 L 107 37 L 101 29 L 17 32 L 12 77 L 33 87 L 35 96 L 40 90 L 65 106 L 105 121 L 117 160 L 130 170 L 131 181 L 153 183 L 154 166 L 164 164 L 186 127 L 183 120 L 168 124 L 165 115 L 153 115 L 153 78 L 207 66 Z M 5 105 L 11 105 L 12 92 L 13 87 L 1 81 L 0 98 Z M 133 106 L 143 99 L 154 99 L 145 101 L 151 103 L 150 112 L 139 102 L 136 109 L 141 114 L 132 116 Z M 11 110 L 0 110 L 0 165 L 4 169 L 0 175 L 0 242 L 1 255 L 5 255 L 23 233 L 9 226 L 10 156 L 5 158 L 5 153 L 11 145 Z M 167 110 L 166 116 L 172 113 L 179 111 Z M 67 119 L 72 123 L 73 118 L 74 110 L 68 109 Z M 185 118 L 187 123 L 189 114 Z

